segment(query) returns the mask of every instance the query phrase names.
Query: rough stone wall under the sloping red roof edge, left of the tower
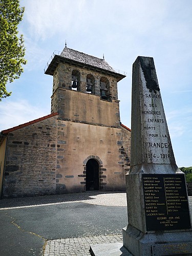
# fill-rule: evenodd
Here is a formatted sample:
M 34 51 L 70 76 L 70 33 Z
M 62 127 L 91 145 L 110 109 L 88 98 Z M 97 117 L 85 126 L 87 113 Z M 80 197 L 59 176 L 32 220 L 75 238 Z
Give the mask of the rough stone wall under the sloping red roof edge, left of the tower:
M 54 194 L 57 116 L 8 135 L 4 197 Z

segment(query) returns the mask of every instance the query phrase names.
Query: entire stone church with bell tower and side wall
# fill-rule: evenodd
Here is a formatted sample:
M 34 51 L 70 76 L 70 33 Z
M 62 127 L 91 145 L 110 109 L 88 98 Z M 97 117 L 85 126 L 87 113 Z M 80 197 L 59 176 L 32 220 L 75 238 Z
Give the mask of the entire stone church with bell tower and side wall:
M 1 197 L 125 190 L 131 130 L 120 122 L 117 91 L 125 75 L 67 46 L 45 74 L 51 114 L 1 132 Z

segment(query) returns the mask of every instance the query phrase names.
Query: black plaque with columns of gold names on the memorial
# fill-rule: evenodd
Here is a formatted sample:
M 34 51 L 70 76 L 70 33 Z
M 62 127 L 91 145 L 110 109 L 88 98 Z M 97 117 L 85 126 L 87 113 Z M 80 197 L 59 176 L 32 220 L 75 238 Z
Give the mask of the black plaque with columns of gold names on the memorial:
M 185 177 L 143 174 L 146 230 L 191 228 Z

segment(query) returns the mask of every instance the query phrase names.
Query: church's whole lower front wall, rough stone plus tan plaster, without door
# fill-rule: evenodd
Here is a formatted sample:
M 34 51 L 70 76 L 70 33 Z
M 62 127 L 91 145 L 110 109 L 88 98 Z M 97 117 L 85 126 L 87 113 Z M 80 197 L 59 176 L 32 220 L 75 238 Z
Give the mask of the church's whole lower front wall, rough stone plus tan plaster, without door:
M 125 190 L 130 140 L 126 131 L 54 116 L 9 133 L 3 196 L 85 191 L 91 158 L 99 164 L 99 190 Z

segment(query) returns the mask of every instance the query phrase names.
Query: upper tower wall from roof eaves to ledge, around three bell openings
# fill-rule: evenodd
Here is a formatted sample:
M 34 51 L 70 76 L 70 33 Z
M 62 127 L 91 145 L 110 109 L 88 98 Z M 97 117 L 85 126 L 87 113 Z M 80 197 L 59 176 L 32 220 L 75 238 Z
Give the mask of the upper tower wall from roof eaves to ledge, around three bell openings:
M 79 74 L 78 91 L 72 90 L 72 72 Z M 93 77 L 91 94 L 86 91 L 87 77 Z M 107 100 L 100 97 L 100 79 L 108 84 Z M 53 75 L 51 113 L 71 121 L 120 127 L 117 79 L 105 72 L 59 63 Z

